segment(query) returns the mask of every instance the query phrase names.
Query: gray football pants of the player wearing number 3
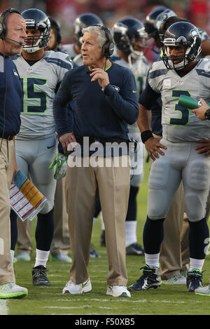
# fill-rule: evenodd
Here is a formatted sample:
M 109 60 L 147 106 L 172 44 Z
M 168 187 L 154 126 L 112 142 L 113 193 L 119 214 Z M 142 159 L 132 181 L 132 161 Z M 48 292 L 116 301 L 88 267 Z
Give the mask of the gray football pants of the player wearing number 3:
M 206 215 L 210 187 L 210 156 L 197 154 L 195 142 L 172 143 L 164 138 L 165 155 L 151 166 L 148 192 L 148 217 L 165 218 L 172 199 L 183 181 L 184 206 L 188 219 L 202 220 Z

